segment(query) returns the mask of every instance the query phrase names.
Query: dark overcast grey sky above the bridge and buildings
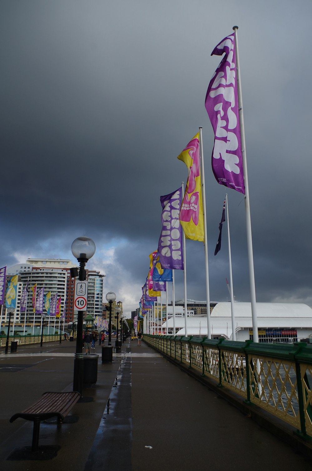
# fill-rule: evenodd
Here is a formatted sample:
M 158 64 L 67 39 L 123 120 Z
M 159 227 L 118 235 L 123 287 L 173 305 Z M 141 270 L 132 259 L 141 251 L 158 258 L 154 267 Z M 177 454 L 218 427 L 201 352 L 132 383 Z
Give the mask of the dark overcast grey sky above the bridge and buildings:
M 243 196 L 213 177 L 204 106 L 210 54 L 237 24 L 256 298 L 312 307 L 311 17 L 304 0 L 2 0 L 0 266 L 74 261 L 88 235 L 88 268 L 130 314 L 159 196 L 186 181 L 176 157 L 203 126 L 210 299 L 229 296 L 225 230 L 213 255 L 227 192 L 234 294 L 250 300 Z M 187 241 L 187 278 L 188 298 L 205 300 L 202 243 Z M 176 272 L 176 299 L 182 282 Z

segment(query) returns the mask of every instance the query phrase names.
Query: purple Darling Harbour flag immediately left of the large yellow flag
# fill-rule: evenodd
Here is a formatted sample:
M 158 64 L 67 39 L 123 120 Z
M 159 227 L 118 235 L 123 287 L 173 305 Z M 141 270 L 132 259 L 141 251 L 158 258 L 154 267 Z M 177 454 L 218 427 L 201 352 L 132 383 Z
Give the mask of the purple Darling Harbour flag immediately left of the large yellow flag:
M 163 228 L 158 242 L 160 264 L 162 268 L 183 270 L 182 227 L 179 220 L 182 188 L 161 196 L 160 203 L 163 208 Z

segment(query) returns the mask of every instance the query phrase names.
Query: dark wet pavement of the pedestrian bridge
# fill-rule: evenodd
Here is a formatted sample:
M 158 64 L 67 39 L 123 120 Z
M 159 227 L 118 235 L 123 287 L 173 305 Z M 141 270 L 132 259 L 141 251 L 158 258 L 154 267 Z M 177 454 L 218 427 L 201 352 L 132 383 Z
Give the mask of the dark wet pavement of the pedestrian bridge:
M 1 352 L 1 471 L 311 469 L 308 459 L 215 392 L 130 339 L 108 364 L 96 346 L 98 381 L 83 389 L 89 402 L 77 403 L 61 425 L 41 422 L 41 455 L 21 454 L 31 446 L 33 422 L 9 418 L 45 391 L 72 390 L 74 350 L 75 343 L 63 341 Z

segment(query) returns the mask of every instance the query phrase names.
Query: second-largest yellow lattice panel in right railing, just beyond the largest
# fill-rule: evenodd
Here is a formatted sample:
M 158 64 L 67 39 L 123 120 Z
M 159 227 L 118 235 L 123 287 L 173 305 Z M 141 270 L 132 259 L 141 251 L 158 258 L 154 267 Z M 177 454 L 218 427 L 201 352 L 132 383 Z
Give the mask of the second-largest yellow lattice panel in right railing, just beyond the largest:
M 221 356 L 222 385 L 247 398 L 245 356 L 227 350 L 221 350 Z

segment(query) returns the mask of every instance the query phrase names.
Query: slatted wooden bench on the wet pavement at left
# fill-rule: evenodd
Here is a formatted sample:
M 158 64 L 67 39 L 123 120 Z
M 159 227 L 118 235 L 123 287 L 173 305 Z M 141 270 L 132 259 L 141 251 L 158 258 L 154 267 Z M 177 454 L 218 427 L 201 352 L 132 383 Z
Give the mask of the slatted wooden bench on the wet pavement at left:
M 33 444 L 32 451 L 38 450 L 39 430 L 41 420 L 57 417 L 57 422 L 61 423 L 64 417 L 74 407 L 80 399 L 79 392 L 45 392 L 32 406 L 23 412 L 12 415 L 10 422 L 14 422 L 18 417 L 33 421 Z

